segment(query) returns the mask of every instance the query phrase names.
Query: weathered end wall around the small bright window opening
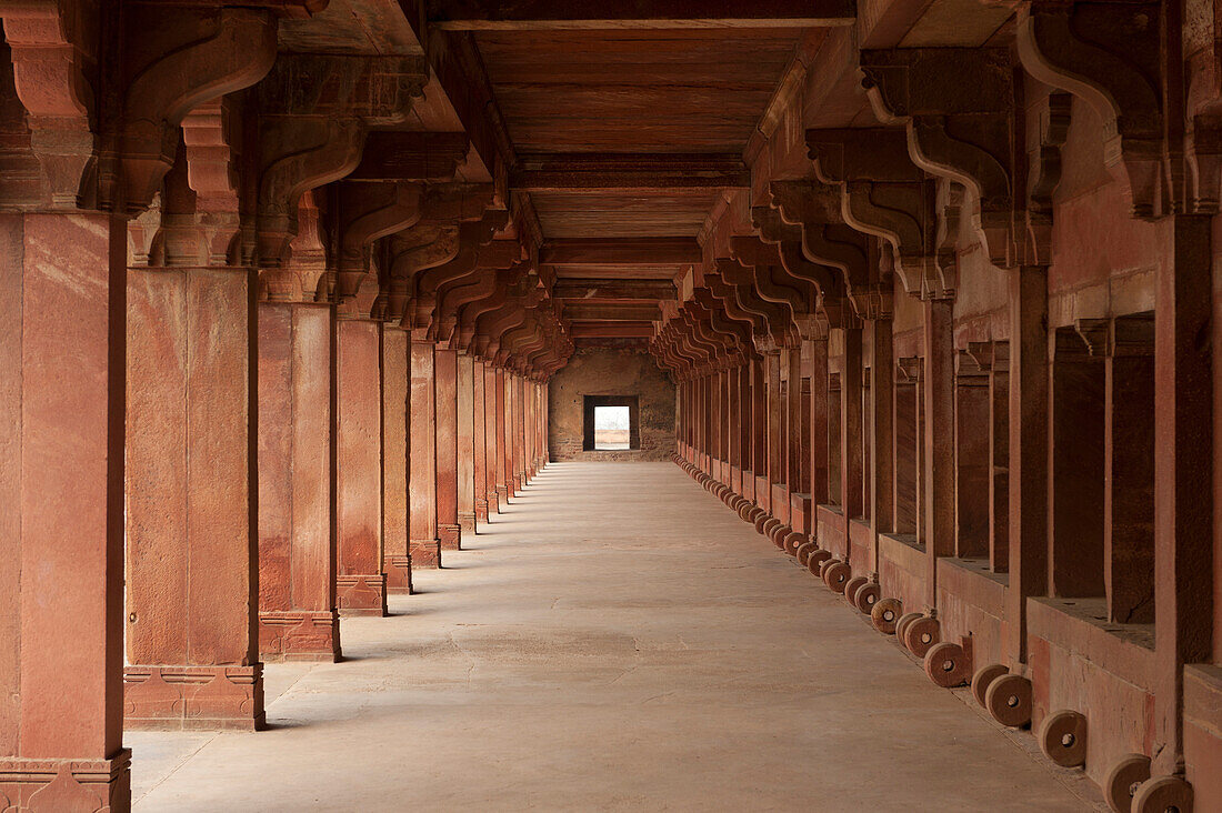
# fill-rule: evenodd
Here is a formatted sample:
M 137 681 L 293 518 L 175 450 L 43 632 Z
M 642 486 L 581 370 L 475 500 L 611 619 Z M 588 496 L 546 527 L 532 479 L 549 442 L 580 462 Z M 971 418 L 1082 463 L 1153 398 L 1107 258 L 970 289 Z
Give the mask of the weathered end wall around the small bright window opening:
M 585 348 L 551 379 L 547 417 L 550 460 L 668 460 L 675 451 L 675 384 L 649 353 Z M 640 449 L 582 451 L 587 395 L 635 395 Z

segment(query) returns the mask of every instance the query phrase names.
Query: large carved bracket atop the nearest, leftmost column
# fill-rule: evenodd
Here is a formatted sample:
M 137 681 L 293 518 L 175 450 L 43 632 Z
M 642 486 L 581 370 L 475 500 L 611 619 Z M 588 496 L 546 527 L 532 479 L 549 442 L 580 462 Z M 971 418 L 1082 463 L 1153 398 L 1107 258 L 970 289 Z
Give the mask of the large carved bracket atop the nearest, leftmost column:
M 45 189 L 31 203 L 130 215 L 150 205 L 187 114 L 271 68 L 276 12 L 302 10 L 280 5 L 128 4 L 121 13 L 77 0 L 6 6 L 15 87 Z M 103 15 L 114 16 L 123 56 L 109 66 L 99 53 Z

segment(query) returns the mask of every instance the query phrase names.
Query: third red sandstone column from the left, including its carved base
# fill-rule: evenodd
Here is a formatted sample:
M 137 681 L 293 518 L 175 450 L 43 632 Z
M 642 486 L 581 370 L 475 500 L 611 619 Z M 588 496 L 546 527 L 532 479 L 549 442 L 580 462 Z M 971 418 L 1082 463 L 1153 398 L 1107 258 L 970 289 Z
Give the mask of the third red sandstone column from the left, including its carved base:
M 334 661 L 331 306 L 260 302 L 258 319 L 259 653 Z

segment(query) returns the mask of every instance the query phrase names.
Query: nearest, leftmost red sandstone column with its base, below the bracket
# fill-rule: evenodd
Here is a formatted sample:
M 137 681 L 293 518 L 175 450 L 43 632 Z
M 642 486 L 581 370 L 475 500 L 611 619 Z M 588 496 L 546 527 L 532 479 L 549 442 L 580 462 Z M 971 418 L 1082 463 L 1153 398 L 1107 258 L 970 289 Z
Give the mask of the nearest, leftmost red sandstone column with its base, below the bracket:
M 115 215 L 0 214 L 0 798 L 22 811 L 131 800 L 125 243 Z

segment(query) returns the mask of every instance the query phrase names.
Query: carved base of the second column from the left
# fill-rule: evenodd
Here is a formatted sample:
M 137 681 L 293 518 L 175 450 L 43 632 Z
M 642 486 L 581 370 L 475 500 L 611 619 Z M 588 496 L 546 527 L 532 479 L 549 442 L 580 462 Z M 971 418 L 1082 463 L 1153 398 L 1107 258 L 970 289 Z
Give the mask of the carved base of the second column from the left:
M 123 670 L 127 729 L 254 731 L 263 723 L 263 664 Z

